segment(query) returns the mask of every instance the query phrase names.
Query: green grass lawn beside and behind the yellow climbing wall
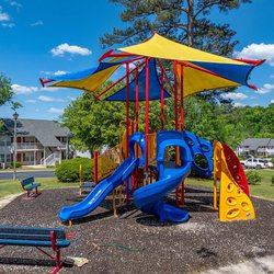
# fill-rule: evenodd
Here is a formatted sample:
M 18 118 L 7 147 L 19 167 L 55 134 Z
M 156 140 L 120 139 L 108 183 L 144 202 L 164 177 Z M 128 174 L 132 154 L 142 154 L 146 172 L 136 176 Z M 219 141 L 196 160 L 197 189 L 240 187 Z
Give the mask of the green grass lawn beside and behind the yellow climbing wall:
M 274 176 L 274 170 L 255 171 L 261 175 L 262 182 L 258 185 L 249 185 L 251 196 L 274 199 L 274 185 L 271 183 L 271 179 L 272 176 Z M 185 183 L 190 185 L 202 185 L 213 187 L 213 180 L 197 180 L 193 178 L 187 178 L 185 180 Z

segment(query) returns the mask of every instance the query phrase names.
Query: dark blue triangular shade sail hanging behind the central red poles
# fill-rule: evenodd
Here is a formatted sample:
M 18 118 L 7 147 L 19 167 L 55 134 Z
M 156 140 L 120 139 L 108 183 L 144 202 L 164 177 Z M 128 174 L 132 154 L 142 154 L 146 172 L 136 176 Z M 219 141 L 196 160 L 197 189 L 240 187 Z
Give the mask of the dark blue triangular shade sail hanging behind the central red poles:
M 139 87 L 139 101 L 146 100 L 146 70 L 145 67 L 138 73 L 138 87 Z M 126 90 L 124 87 L 113 95 L 105 99 L 105 101 L 126 101 Z M 134 79 L 129 83 L 129 101 L 135 101 L 135 90 L 136 90 L 136 79 Z M 164 99 L 170 98 L 171 95 L 163 91 Z M 161 98 L 161 83 L 158 78 L 157 69 L 156 69 L 156 60 L 149 60 L 149 101 L 159 100 Z

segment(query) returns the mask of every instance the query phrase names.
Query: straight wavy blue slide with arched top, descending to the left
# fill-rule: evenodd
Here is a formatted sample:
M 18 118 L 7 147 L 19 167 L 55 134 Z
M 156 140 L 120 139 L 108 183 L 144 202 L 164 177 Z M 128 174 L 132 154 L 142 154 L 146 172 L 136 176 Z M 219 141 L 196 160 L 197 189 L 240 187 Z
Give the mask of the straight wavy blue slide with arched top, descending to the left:
M 142 157 L 139 159 L 135 159 L 134 146 L 136 142 L 141 148 Z M 69 220 L 90 214 L 100 205 L 107 194 L 121 185 L 135 169 L 145 164 L 145 136 L 141 133 L 135 133 L 130 136 L 129 151 L 129 158 L 126 159 L 111 176 L 100 182 L 83 201 L 72 206 L 64 206 L 60 209 L 59 218 L 61 220 Z

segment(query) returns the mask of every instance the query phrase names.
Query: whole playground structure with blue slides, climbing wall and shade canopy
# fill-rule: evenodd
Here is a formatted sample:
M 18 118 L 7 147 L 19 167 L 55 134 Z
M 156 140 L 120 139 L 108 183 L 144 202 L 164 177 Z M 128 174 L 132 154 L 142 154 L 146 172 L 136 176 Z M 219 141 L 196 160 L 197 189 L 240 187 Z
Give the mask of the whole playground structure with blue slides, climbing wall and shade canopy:
M 160 59 L 169 60 L 173 65 L 173 79 L 167 75 Z M 216 209 L 217 180 L 220 180 L 220 220 L 253 219 L 254 210 L 249 198 L 248 184 L 241 164 L 225 144 L 214 142 L 213 146 L 209 141 L 184 130 L 184 98 L 201 91 L 227 87 L 247 85 L 256 89 L 247 83 L 247 79 L 252 69 L 264 60 L 228 59 L 180 45 L 153 34 L 145 43 L 119 48 L 116 52 L 109 50 L 99 61 L 99 67 L 93 69 L 41 80 L 43 85 L 48 83 L 49 87 L 84 89 L 91 92 L 96 100 L 103 98 L 105 101 L 126 102 L 126 134 L 124 146 L 119 146 L 118 151 L 121 153 L 123 150 L 125 160 L 110 176 L 98 183 L 82 202 L 64 207 L 59 217 L 62 220 L 71 220 L 88 215 L 111 191 L 125 181 L 127 206 L 130 196 L 134 195 L 135 205 L 145 213 L 158 216 L 161 222 L 187 220 L 186 210 L 167 205 L 163 199 L 168 193 L 176 190 L 176 204 L 179 204 L 178 187 L 181 185 L 183 205 L 184 179 L 191 169 L 194 169 L 205 175 L 214 173 L 214 207 Z M 129 65 L 134 65 L 132 70 L 129 70 Z M 99 92 L 98 89 L 121 66 L 126 67 L 126 75 L 104 91 Z M 132 81 L 129 81 L 129 77 L 133 78 Z M 123 80 L 126 81 L 126 85 L 106 96 L 106 93 Z M 170 93 L 165 89 L 167 87 L 170 88 Z M 164 100 L 171 95 L 174 99 L 174 130 L 172 132 L 164 130 Z M 161 104 L 161 132 L 151 139 L 149 138 L 151 134 L 149 129 L 150 100 L 160 100 Z M 135 125 L 132 128 L 130 101 L 135 101 Z M 145 135 L 139 133 L 138 127 L 139 101 L 145 101 Z M 140 155 L 135 144 L 139 145 Z M 175 147 L 173 167 L 168 167 L 164 160 L 165 148 L 170 146 Z M 202 169 L 195 163 L 197 153 L 206 158 L 206 169 Z M 155 163 L 157 164 L 153 167 L 151 167 L 152 155 L 156 156 Z M 136 169 L 140 168 L 144 173 L 144 185 L 136 190 L 135 185 L 138 184 L 135 184 L 136 176 L 133 174 Z M 157 174 L 153 183 L 151 180 L 149 182 L 151 170 L 155 170 Z

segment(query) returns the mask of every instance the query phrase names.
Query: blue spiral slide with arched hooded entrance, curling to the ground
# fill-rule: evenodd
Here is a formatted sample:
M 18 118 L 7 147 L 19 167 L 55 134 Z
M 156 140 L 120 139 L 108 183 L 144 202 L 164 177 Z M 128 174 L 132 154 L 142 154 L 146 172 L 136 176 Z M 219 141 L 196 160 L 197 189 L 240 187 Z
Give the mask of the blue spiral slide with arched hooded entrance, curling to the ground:
M 164 150 L 170 146 L 180 148 L 181 167 L 165 167 Z M 175 130 L 158 133 L 157 169 L 159 181 L 136 190 L 134 193 L 135 205 L 144 213 L 156 215 L 160 222 L 164 220 L 186 221 L 190 217 L 189 213 L 185 209 L 164 204 L 164 197 L 190 174 L 192 162 L 193 157 L 182 133 Z

